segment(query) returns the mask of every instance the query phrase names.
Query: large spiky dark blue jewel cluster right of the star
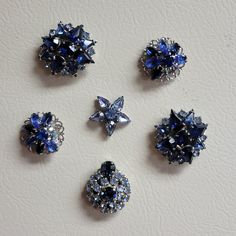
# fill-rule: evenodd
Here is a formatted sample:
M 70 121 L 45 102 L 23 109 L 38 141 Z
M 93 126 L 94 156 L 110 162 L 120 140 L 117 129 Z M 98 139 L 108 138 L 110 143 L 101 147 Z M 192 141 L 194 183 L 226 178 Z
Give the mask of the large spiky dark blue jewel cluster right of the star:
M 207 124 L 202 122 L 201 117 L 195 117 L 194 111 L 181 110 L 176 113 L 171 110 L 169 118 L 162 120 L 156 125 L 157 144 L 156 149 L 164 155 L 169 163 L 184 162 L 192 163 L 194 157 L 199 156 L 200 151 L 205 149 L 204 135 Z

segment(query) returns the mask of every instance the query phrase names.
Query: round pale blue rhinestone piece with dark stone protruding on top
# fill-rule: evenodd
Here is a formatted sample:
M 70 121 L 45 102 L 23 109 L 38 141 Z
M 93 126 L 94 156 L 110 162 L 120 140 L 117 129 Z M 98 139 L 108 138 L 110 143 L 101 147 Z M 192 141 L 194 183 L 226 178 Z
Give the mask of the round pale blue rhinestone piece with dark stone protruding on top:
M 121 210 L 130 198 L 128 179 L 111 161 L 106 161 L 90 177 L 86 185 L 89 202 L 102 213 L 115 213 Z

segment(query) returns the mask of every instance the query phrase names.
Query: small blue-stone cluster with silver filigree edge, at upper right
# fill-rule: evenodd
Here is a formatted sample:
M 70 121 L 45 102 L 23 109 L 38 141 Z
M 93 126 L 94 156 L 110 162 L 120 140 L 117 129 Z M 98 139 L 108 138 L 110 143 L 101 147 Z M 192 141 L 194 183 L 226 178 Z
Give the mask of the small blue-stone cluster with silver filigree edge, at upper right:
M 141 57 L 143 70 L 152 80 L 170 80 L 187 62 L 180 45 L 169 38 L 152 40 Z

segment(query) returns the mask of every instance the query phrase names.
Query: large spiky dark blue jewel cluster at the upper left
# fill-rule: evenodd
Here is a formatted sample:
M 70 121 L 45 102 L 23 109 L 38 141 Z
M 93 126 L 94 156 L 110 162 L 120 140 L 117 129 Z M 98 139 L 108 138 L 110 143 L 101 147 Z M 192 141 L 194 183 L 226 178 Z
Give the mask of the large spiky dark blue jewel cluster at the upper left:
M 45 62 L 53 75 L 74 75 L 83 70 L 86 64 L 94 63 L 93 46 L 83 25 L 73 27 L 72 24 L 60 22 L 57 29 L 51 29 L 49 36 L 42 37 L 39 58 Z

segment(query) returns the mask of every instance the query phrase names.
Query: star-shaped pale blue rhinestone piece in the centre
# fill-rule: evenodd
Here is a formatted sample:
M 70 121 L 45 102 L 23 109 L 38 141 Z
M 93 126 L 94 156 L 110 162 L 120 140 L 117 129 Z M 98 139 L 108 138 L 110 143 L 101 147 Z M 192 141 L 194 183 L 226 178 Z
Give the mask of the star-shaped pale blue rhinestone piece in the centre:
M 124 97 L 117 98 L 112 104 L 103 97 L 98 96 L 97 101 L 101 110 L 96 111 L 89 117 L 89 120 L 104 122 L 107 134 L 111 136 L 118 123 L 127 124 L 130 122 L 129 117 L 122 113 L 124 106 Z

